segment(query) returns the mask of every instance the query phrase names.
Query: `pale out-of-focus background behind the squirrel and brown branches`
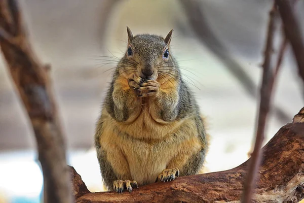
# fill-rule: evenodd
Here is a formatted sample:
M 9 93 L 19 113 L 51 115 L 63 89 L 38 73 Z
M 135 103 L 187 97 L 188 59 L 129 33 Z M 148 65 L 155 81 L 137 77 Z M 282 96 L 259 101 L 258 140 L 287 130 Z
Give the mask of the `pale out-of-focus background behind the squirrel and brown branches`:
M 272 1 L 262 0 L 23 0 L 31 44 L 51 76 L 68 145 L 68 164 L 91 191 L 102 180 L 93 148 L 95 123 L 111 80 L 99 56 L 121 57 L 133 35 L 166 36 L 172 54 L 206 116 L 211 145 L 206 172 L 248 158 L 255 135 L 261 63 Z M 303 19 L 304 2 L 296 11 Z M 304 22 L 303 22 L 304 23 Z M 278 22 L 278 29 L 281 24 Z M 304 31 L 304 30 L 303 30 Z M 275 56 L 281 37 L 275 40 Z M 274 57 L 273 61 L 276 61 Z M 273 63 L 275 64 L 275 63 Z M 106 72 L 105 72 L 106 71 Z M 265 143 L 304 104 L 304 87 L 288 46 L 277 78 Z M 0 61 L 0 202 L 39 202 L 43 177 L 33 131 Z

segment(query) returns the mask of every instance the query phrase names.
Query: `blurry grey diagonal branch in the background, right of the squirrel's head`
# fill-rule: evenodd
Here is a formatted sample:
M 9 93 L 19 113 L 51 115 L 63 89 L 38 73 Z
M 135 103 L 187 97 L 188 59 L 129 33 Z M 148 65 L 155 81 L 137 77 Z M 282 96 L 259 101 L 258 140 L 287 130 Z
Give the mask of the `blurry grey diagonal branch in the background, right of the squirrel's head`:
M 222 44 L 210 28 L 203 10 L 200 8 L 200 1 L 180 0 L 187 14 L 189 24 L 197 34 L 201 43 L 207 46 L 225 64 L 227 71 L 241 84 L 246 93 L 252 98 L 257 98 L 256 86 L 250 75 L 243 67 L 229 54 L 229 50 Z M 275 106 L 274 112 L 282 123 L 289 121 L 290 116 L 280 107 Z

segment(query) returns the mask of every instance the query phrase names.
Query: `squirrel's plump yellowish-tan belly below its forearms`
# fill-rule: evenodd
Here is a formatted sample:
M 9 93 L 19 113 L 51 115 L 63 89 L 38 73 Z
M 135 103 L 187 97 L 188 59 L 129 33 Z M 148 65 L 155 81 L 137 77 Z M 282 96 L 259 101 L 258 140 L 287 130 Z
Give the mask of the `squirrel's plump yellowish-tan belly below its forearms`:
M 142 117 L 143 112 L 136 121 L 126 126 L 109 115 L 105 115 L 101 121 L 103 133 L 99 145 L 107 155 L 117 179 L 135 180 L 138 185 L 145 185 L 154 183 L 165 168 L 177 167 L 180 168 L 181 174 L 187 174 L 188 172 L 182 171 L 183 166 L 193 154 L 198 154 L 204 147 L 194 119 L 176 122 L 175 126 L 148 126 L 142 124 Z M 170 128 L 173 130 L 169 130 Z M 136 137 L 131 133 L 136 134 Z M 109 184 L 112 184 L 111 182 Z

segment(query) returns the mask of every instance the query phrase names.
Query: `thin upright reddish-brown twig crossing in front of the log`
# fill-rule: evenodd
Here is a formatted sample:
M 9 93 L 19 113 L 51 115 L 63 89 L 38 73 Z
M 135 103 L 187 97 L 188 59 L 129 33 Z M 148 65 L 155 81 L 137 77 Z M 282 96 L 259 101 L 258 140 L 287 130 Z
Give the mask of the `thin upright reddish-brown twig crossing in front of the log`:
M 244 193 L 242 196 L 243 203 L 251 202 L 252 189 L 255 187 L 258 167 L 260 165 L 261 147 L 264 140 L 265 123 L 267 115 L 270 110 L 270 100 L 272 94 L 273 83 L 273 69 L 271 67 L 271 56 L 273 52 L 273 36 L 275 33 L 275 21 L 276 21 L 276 8 L 275 4 L 270 11 L 270 20 L 268 25 L 267 42 L 265 45 L 265 57 L 263 63 L 263 78 L 260 89 L 260 107 L 258 115 L 258 124 L 256 131 L 256 139 L 254 150 L 252 152 L 251 161 L 248 168 L 247 178 L 244 183 Z

